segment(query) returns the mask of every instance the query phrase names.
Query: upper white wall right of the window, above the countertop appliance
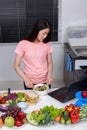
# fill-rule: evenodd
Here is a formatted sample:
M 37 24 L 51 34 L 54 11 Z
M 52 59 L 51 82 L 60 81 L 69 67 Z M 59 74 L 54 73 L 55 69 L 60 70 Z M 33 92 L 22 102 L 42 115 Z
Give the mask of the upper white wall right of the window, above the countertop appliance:
M 87 0 L 62 0 L 62 39 L 69 26 L 87 25 Z

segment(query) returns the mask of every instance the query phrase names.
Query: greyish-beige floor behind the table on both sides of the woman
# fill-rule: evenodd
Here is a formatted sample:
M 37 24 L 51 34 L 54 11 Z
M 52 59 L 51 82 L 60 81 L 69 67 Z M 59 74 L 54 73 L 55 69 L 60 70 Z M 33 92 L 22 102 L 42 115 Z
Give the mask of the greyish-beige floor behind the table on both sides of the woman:
M 52 88 L 61 88 L 65 86 L 64 82 L 58 81 L 54 82 L 51 87 Z M 22 81 L 10 81 L 10 82 L 0 82 L 0 91 L 7 91 L 8 88 L 11 90 L 23 90 L 23 82 Z

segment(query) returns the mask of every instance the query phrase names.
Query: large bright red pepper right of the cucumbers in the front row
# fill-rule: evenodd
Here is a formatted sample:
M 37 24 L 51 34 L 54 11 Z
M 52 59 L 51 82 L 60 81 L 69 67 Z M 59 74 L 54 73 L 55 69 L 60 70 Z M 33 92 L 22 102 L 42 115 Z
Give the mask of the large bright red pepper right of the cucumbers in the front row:
M 73 109 L 70 112 L 70 119 L 72 123 L 77 123 L 79 121 L 80 116 L 79 116 L 79 111 L 77 109 Z

